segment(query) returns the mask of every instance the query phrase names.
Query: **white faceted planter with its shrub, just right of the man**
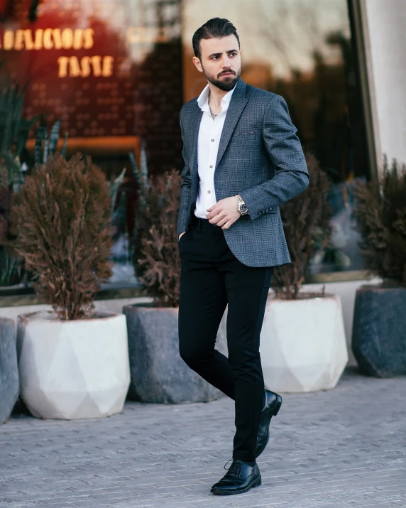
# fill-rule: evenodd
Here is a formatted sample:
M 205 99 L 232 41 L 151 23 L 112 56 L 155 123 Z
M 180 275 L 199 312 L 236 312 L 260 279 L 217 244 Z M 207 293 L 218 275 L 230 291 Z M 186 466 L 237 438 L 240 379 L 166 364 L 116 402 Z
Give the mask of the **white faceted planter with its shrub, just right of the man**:
M 339 297 L 300 291 L 317 246 L 331 237 L 329 181 L 312 153 L 305 157 L 309 187 L 280 207 L 292 263 L 274 271 L 261 333 L 265 387 L 273 391 L 332 388 L 348 361 Z

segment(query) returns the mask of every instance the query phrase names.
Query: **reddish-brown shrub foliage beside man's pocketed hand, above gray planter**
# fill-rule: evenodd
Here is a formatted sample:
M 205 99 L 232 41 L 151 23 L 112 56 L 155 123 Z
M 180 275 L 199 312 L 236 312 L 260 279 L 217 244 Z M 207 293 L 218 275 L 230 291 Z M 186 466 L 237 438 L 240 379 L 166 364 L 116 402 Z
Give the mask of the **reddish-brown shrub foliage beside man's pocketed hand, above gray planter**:
M 140 248 L 136 269 L 156 306 L 177 307 L 180 296 L 180 257 L 176 226 L 181 176 L 175 170 L 150 176 L 142 187 L 138 210 Z

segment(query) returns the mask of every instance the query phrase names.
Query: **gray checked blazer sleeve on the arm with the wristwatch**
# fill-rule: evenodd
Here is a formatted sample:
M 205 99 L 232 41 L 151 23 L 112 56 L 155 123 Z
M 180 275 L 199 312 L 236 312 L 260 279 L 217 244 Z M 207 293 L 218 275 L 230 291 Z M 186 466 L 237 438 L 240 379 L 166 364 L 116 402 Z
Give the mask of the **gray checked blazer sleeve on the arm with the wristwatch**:
M 275 95 L 263 118 L 263 143 L 275 167 L 270 180 L 240 192 L 251 220 L 295 198 L 309 185 L 309 172 L 297 129 L 283 97 Z

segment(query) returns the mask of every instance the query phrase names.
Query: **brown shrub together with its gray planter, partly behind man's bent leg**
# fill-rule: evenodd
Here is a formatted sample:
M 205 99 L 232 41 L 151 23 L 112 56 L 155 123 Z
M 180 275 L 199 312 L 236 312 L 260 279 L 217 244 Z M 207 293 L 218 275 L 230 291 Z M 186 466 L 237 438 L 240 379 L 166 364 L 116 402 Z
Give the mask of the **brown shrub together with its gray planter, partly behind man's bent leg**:
M 193 372 L 179 355 L 177 328 L 180 258 L 176 242 L 180 174 L 147 177 L 133 160 L 140 198 L 136 217 L 136 271 L 153 303 L 124 306 L 131 385 L 129 396 L 143 402 L 177 404 L 208 401 L 221 392 Z M 224 345 L 224 325 L 219 337 Z M 224 346 L 223 346 L 224 347 Z

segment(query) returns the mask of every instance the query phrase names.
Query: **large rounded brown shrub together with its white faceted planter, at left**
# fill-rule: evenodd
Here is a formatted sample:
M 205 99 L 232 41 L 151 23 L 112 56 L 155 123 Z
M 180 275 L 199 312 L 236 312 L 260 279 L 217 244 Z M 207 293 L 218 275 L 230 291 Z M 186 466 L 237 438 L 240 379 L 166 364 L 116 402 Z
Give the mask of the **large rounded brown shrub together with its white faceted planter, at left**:
M 15 250 L 53 311 L 18 316 L 21 398 L 40 418 L 94 418 L 123 408 L 129 384 L 126 318 L 94 310 L 111 275 L 104 173 L 80 153 L 48 156 L 11 211 Z

